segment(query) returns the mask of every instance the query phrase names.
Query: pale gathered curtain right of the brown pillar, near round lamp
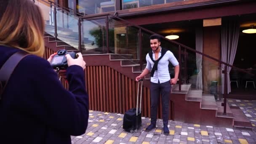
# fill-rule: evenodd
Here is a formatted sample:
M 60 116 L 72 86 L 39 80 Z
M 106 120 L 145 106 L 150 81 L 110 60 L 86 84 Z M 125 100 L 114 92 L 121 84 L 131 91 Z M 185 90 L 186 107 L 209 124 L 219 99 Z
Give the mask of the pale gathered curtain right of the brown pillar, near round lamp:
M 221 27 L 221 61 L 224 61 L 230 65 L 233 64 L 235 59 L 235 53 L 237 51 L 237 43 L 239 37 L 238 21 L 223 21 Z M 225 65 L 221 64 L 221 68 L 224 70 Z M 229 72 L 231 67 L 227 69 L 227 93 L 231 92 Z M 224 74 L 222 74 L 222 93 L 224 93 Z

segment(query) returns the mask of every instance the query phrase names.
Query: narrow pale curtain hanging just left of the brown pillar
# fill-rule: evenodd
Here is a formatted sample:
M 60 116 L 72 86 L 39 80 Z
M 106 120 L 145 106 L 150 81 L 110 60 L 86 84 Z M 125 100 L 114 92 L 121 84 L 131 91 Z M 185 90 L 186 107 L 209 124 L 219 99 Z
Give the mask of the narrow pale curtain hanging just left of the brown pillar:
M 203 28 L 198 27 L 195 32 L 195 49 L 197 51 L 203 52 Z M 203 90 L 203 81 L 202 81 L 202 55 L 196 53 L 197 60 L 197 83 L 196 89 Z

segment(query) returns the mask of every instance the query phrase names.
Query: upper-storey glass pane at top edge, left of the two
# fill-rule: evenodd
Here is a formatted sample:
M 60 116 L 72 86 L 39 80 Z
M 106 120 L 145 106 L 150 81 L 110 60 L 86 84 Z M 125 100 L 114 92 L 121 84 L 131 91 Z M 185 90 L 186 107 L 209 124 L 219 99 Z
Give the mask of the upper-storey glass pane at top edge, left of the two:
M 78 0 L 77 10 L 86 14 L 115 11 L 115 0 Z

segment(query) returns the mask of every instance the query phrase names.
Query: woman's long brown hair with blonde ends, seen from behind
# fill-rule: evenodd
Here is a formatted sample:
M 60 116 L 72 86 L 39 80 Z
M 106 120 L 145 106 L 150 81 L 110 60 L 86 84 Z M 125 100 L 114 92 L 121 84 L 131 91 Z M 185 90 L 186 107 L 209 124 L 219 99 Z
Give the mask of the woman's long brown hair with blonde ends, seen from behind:
M 2 16 L 0 13 L 0 45 L 42 57 L 44 21 L 40 8 L 31 0 L 8 0 L 6 4 Z

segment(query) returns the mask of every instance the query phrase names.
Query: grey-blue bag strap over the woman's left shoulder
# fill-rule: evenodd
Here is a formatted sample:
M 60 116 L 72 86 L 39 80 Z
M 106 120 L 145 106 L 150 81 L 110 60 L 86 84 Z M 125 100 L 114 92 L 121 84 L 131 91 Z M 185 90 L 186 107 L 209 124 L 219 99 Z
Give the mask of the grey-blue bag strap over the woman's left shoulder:
M 0 100 L 2 99 L 3 91 L 8 83 L 9 78 L 11 77 L 11 74 L 13 73 L 13 70 L 19 64 L 21 59 L 23 59 L 27 55 L 30 55 L 30 54 L 24 51 L 18 51 L 13 55 L 11 55 L 11 57 L 1 67 L 0 69 Z

